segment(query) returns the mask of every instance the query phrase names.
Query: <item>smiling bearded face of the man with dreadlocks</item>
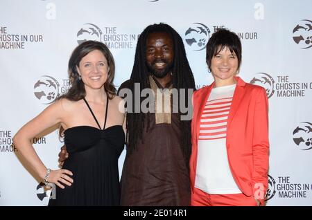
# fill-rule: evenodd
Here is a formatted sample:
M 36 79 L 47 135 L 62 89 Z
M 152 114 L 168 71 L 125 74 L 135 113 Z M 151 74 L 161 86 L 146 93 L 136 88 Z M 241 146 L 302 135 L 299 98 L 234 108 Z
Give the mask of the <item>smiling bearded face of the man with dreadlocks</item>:
M 171 72 L 173 66 L 173 41 L 168 33 L 150 33 L 146 40 L 146 64 L 157 78 Z

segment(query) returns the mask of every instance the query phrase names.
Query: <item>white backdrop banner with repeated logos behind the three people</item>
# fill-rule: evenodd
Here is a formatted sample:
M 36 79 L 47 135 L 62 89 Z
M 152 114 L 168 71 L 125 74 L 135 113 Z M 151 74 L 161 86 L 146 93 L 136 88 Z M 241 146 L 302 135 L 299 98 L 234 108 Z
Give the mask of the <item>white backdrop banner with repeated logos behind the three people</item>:
M 311 0 L 1 0 L 0 205 L 46 205 L 49 192 L 19 156 L 12 137 L 67 92 L 71 51 L 104 42 L 114 83 L 130 77 L 139 34 L 164 22 L 184 40 L 197 88 L 212 82 L 205 47 L 216 28 L 241 38 L 239 75 L 266 88 L 270 102 L 267 205 L 312 205 Z M 57 127 L 33 138 L 46 167 L 58 168 Z M 119 159 L 122 169 L 125 152 Z

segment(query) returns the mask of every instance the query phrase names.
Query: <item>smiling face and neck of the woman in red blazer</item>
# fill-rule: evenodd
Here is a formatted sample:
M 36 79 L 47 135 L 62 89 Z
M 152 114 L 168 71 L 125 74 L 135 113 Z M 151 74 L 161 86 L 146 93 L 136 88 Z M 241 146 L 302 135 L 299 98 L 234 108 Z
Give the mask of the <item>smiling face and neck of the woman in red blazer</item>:
M 211 73 L 218 86 L 234 84 L 234 76 L 236 75 L 238 68 L 239 60 L 234 51 L 231 53 L 227 46 L 211 59 Z

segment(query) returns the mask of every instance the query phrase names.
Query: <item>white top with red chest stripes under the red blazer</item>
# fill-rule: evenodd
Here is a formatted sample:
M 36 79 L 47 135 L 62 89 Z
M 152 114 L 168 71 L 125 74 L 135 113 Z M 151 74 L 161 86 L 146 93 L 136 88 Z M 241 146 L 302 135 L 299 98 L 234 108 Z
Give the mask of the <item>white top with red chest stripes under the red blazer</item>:
M 200 117 L 195 186 L 209 194 L 241 193 L 227 160 L 227 118 L 236 84 L 211 90 Z

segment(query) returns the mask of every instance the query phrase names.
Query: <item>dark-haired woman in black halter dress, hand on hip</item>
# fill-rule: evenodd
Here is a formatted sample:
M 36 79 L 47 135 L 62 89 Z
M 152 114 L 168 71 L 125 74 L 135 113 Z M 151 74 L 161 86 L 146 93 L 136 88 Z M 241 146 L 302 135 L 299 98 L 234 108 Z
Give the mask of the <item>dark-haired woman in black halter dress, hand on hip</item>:
M 119 205 L 118 158 L 123 151 L 123 100 L 116 96 L 114 59 L 101 42 L 87 41 L 69 59 L 71 88 L 22 127 L 14 143 L 45 183 L 55 183 L 49 205 Z M 60 123 L 69 158 L 47 169 L 31 140 Z

